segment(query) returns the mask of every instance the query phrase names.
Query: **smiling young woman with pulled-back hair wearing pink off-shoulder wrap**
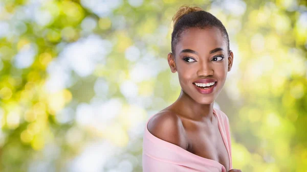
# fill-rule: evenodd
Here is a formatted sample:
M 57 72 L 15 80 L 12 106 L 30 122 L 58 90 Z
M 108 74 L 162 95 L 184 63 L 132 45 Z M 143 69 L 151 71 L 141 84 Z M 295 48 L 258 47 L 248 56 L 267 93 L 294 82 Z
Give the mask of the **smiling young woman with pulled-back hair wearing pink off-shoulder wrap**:
M 182 6 L 173 23 L 168 63 L 182 89 L 147 121 L 143 171 L 240 171 L 232 169 L 228 117 L 213 108 L 233 62 L 227 31 L 199 7 Z

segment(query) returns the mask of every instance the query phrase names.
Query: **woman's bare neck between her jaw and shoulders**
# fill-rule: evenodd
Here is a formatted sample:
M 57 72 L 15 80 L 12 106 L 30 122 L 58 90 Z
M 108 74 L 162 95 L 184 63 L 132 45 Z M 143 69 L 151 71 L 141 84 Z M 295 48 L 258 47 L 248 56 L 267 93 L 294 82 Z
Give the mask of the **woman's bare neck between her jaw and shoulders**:
M 212 121 L 213 104 L 214 102 L 211 104 L 200 104 L 195 102 L 188 94 L 181 90 L 173 106 L 176 108 L 176 111 L 180 112 L 180 114 L 186 118 Z

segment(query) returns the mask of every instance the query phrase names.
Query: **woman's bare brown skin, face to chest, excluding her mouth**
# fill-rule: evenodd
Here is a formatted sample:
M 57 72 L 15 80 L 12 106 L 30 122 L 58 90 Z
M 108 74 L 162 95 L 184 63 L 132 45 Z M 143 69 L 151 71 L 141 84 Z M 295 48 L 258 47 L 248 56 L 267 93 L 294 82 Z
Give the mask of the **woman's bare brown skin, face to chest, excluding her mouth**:
M 231 70 L 233 53 L 215 27 L 185 30 L 173 53 L 168 54 L 168 64 L 173 73 L 178 72 L 182 90 L 176 102 L 149 120 L 148 131 L 197 156 L 220 162 L 229 171 L 228 152 L 213 104 Z M 217 83 L 212 93 L 202 94 L 192 83 L 207 78 Z M 236 171 L 240 170 L 230 170 Z

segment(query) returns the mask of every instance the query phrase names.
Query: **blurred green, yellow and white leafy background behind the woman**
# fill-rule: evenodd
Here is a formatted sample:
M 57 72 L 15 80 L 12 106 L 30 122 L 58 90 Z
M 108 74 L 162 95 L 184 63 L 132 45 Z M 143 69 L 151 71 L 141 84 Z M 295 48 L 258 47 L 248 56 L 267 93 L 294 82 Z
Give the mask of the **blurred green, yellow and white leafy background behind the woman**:
M 306 172 L 303 0 L 2 0 L 0 171 L 142 171 L 145 122 L 180 93 L 167 54 L 184 4 L 229 33 L 234 66 L 215 106 L 233 167 Z

